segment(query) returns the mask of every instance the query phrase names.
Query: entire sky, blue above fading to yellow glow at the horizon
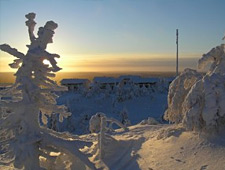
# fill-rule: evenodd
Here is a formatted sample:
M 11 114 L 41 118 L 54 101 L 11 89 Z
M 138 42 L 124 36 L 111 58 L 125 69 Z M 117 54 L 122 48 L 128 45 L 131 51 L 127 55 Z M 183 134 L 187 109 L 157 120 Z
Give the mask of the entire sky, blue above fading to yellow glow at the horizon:
M 63 71 L 174 71 L 175 30 L 180 65 L 195 68 L 203 53 L 222 43 L 224 0 L 0 0 L 0 44 L 26 52 L 24 15 L 36 29 L 59 24 L 48 51 Z M 14 58 L 0 52 L 0 72 Z

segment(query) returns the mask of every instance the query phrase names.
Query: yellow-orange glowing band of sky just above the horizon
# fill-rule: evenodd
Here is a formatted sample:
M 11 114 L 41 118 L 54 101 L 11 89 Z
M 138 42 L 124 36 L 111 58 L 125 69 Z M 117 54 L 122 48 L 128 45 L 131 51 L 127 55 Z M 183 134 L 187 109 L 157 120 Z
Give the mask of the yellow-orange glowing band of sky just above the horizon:
M 60 54 L 61 72 L 175 71 L 175 54 Z M 181 54 L 179 70 L 196 69 L 200 54 Z M 15 57 L 0 52 L 0 72 L 15 72 L 9 63 Z

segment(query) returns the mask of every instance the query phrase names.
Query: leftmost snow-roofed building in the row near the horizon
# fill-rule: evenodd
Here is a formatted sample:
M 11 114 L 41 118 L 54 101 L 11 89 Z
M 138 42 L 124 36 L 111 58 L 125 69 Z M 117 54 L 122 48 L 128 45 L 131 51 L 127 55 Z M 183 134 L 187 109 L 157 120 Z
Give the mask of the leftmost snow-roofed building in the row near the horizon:
M 66 86 L 68 90 L 73 91 L 80 88 L 88 89 L 91 82 L 88 79 L 63 79 L 60 83 Z

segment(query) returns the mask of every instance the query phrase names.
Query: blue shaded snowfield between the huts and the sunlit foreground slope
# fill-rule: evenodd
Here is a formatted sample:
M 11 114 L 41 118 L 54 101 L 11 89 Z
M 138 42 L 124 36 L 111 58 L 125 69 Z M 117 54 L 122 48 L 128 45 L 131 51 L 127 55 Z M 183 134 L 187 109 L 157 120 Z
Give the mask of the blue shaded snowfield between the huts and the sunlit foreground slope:
M 148 117 L 153 117 L 161 122 L 167 107 L 167 92 L 152 92 L 116 104 L 113 104 L 114 98 L 114 95 L 84 97 L 73 92 L 63 94 L 58 103 L 65 104 L 70 109 L 72 116 L 63 124 L 58 125 L 59 131 L 69 131 L 74 134 L 89 133 L 89 119 L 97 112 L 103 112 L 107 117 L 122 121 L 120 113 L 126 110 L 132 125 Z

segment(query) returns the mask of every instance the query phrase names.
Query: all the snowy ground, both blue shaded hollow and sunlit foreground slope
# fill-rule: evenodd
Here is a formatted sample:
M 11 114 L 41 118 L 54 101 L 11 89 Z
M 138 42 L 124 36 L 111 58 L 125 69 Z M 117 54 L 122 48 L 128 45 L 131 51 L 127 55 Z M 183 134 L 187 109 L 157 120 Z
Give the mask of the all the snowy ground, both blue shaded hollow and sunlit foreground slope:
M 148 95 L 118 102 L 113 106 L 113 96 L 84 97 L 78 93 L 63 94 L 58 103 L 69 106 L 73 116 L 62 124 L 61 131 L 70 131 L 76 139 L 91 142 L 82 148 L 84 154 L 101 170 L 224 170 L 225 133 L 207 137 L 203 133 L 190 132 L 170 124 L 141 124 L 143 119 L 154 117 L 161 121 L 167 106 L 167 93 L 154 92 Z M 107 117 L 120 120 L 118 114 L 126 108 L 132 123 L 129 131 L 117 129 L 108 133 L 104 157 L 99 159 L 98 134 L 88 132 L 89 117 L 103 112 Z M 138 124 L 139 123 L 139 124 Z M 72 140 L 69 138 L 68 140 Z M 65 158 L 67 159 L 67 158 Z M 88 169 L 77 159 L 76 169 Z M 0 164 L 0 170 L 13 170 Z M 55 170 L 67 169 L 54 167 Z

